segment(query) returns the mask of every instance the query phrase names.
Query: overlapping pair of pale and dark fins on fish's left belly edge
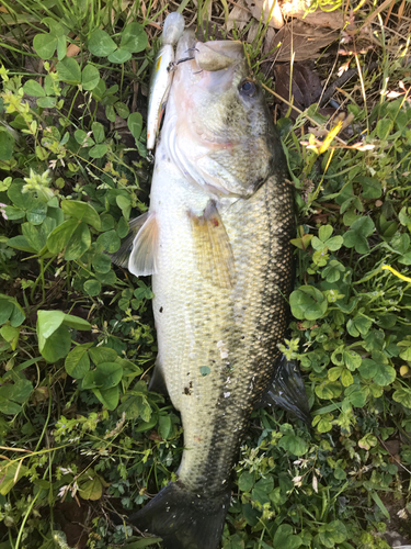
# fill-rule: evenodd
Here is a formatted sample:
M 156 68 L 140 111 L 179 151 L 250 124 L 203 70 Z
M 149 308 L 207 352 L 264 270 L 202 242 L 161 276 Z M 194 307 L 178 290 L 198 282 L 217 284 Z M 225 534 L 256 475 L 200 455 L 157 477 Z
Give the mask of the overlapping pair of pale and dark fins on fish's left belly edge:
M 158 223 L 155 212 L 147 212 L 129 224 L 130 232 L 121 248 L 112 254 L 114 264 L 127 267 L 136 277 L 157 272 Z

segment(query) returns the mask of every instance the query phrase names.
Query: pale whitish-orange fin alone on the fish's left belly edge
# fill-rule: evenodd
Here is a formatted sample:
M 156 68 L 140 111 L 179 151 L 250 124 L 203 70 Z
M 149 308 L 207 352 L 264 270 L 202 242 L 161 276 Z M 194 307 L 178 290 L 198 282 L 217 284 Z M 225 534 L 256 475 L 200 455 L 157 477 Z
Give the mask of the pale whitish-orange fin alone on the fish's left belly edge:
M 133 243 L 128 270 L 136 277 L 157 272 L 159 227 L 155 212 L 150 212 Z

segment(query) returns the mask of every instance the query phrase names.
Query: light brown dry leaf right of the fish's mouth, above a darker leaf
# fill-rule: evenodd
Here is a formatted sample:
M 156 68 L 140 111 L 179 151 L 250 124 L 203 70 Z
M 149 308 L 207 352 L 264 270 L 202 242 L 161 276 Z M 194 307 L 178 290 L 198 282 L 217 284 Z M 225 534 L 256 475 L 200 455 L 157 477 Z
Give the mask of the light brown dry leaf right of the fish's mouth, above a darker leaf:
M 290 61 L 295 54 L 295 61 L 315 59 L 322 47 L 338 40 L 340 33 L 327 31 L 323 26 L 311 26 L 302 21 L 293 21 L 292 24 L 283 26 L 275 35 L 271 48 L 279 46 L 273 54 L 277 61 Z

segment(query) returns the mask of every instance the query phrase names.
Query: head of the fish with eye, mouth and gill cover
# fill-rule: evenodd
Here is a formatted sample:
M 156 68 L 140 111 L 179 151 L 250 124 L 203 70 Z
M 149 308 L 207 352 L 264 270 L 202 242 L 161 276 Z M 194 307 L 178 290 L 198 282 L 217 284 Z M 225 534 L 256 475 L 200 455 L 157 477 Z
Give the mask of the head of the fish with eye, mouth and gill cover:
M 217 195 L 249 197 L 273 173 L 282 148 L 241 42 L 180 38 L 172 83 L 172 156 Z

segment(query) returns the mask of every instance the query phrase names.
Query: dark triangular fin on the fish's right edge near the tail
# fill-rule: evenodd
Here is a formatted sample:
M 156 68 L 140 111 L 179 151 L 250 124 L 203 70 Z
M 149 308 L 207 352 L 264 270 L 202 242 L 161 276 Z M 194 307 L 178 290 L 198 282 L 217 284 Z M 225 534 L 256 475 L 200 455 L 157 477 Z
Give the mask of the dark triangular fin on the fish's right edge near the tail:
M 311 426 L 312 418 L 306 388 L 295 360 L 288 360 L 284 355 L 281 357 L 272 385 L 259 405 L 260 407 L 265 405 L 279 406 L 302 419 L 309 427 Z

